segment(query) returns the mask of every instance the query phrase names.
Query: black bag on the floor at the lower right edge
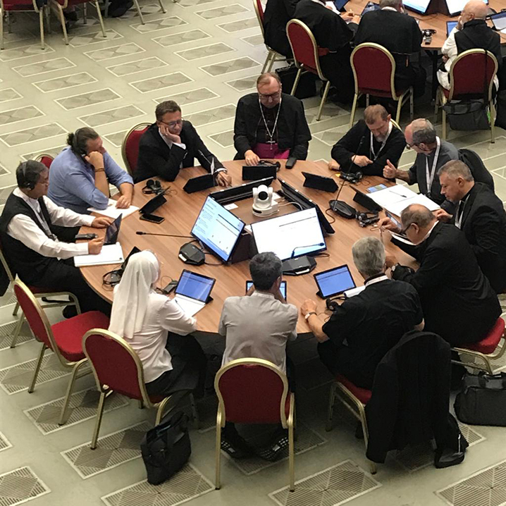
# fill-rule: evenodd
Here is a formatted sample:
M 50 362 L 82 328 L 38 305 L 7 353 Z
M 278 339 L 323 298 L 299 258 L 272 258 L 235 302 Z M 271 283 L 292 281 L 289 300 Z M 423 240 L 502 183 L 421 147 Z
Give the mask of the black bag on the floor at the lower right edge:
M 454 407 L 464 424 L 506 426 L 506 373 L 467 373 Z

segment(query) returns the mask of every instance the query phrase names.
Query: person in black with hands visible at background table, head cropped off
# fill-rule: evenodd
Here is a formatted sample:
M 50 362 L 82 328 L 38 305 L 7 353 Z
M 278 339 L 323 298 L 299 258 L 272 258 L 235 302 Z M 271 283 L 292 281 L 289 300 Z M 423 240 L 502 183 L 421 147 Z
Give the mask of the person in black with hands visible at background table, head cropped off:
M 325 1 L 300 0 L 293 17 L 313 32 L 316 44 L 321 48 L 321 71 L 337 90 L 335 99 L 343 104 L 350 103 L 354 95 L 350 42 L 357 31 L 359 16 L 352 13 L 339 15 L 327 8 Z

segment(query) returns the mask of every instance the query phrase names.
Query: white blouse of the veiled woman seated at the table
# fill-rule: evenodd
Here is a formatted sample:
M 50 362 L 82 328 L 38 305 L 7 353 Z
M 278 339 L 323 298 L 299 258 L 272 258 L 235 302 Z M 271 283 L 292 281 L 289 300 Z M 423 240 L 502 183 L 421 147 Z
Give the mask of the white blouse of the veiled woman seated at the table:
M 149 292 L 149 304 L 142 323 L 142 331 L 125 341 L 135 350 L 144 369 L 144 382 L 156 380 L 171 371 L 171 354 L 166 350 L 167 331 L 187 335 L 197 330 L 197 320 L 187 316 L 166 295 Z

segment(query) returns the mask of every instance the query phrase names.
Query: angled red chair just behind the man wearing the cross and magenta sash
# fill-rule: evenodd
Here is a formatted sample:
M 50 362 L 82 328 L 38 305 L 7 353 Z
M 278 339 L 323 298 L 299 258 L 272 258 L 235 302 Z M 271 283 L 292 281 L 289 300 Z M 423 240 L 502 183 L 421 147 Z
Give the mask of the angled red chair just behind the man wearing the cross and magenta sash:
M 319 56 L 326 54 L 326 49 L 318 47 L 309 27 L 298 19 L 288 21 L 286 24 L 286 35 L 288 35 L 288 42 L 290 42 L 293 57 L 295 58 L 295 66 L 299 69 L 295 76 L 291 94 L 295 94 L 300 75 L 303 72 L 316 74 L 323 82 L 326 82 L 323 97 L 321 97 L 320 108 L 318 109 L 318 116 L 316 116 L 316 121 L 320 121 L 321 110 L 327 99 L 328 89 L 331 87 L 331 82 L 321 73 L 319 61 Z

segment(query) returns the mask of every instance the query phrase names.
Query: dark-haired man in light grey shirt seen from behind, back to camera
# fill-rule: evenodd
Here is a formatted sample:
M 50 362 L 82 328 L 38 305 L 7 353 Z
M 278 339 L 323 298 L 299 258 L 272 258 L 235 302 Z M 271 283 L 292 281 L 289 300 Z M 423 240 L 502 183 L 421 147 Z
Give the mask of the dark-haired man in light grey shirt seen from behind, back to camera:
M 279 290 L 282 262 L 271 252 L 259 253 L 249 262 L 249 272 L 253 286 L 247 295 L 228 297 L 223 304 L 218 328 L 226 338 L 222 366 L 242 358 L 269 360 L 280 371 L 288 373 L 291 382 L 286 343 L 297 338 L 298 311 L 294 305 L 287 304 Z M 287 444 L 286 434 L 281 433 L 275 443 L 260 450 L 259 455 L 275 460 Z M 235 458 L 253 451 L 230 422 L 223 428 L 221 449 Z

